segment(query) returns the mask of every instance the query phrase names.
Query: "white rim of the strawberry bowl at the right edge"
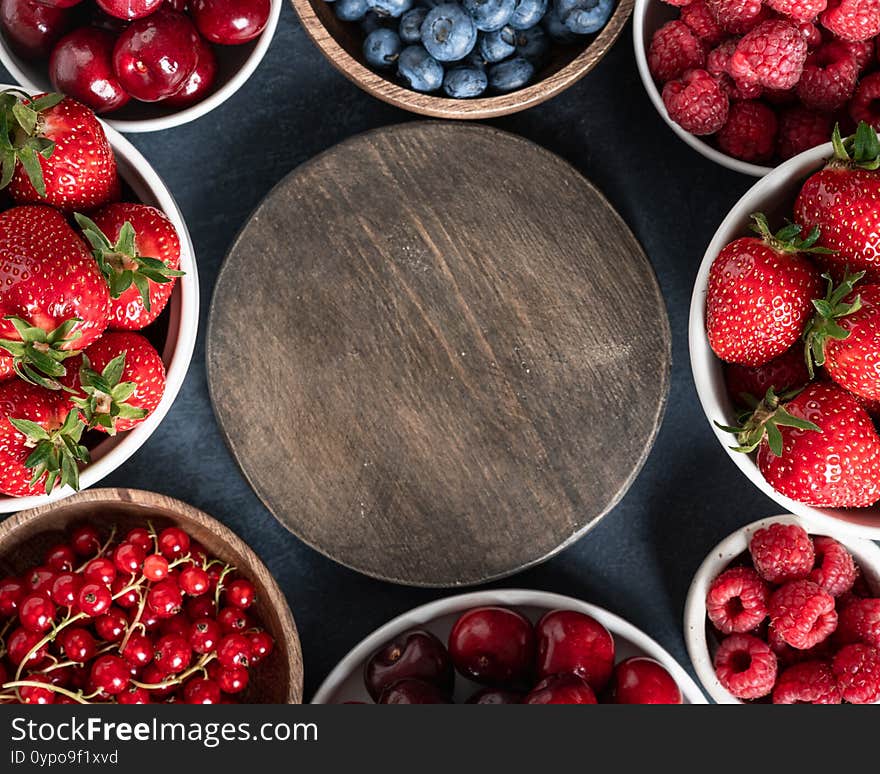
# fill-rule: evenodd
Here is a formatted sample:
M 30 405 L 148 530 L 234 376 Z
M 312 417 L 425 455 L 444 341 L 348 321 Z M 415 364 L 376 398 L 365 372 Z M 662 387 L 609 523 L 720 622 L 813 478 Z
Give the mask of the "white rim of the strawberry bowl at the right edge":
M 717 369 L 721 369 L 722 364 L 715 357 L 706 338 L 706 286 L 712 262 L 728 239 L 725 235 L 732 231 L 737 224 L 744 222 L 752 212 L 760 209 L 758 204 L 753 204 L 753 202 L 760 202 L 762 198 L 770 194 L 781 183 L 788 183 L 798 179 L 802 176 L 803 170 L 820 168 L 833 155 L 834 148 L 829 142 L 784 162 L 769 175 L 758 180 L 733 206 L 727 217 L 718 226 L 709 246 L 706 248 L 703 260 L 697 271 L 696 279 L 694 280 L 688 317 L 688 349 L 694 386 L 696 387 L 703 413 L 709 420 L 709 424 L 718 442 L 727 452 L 728 457 L 745 474 L 746 478 L 786 511 L 797 514 L 823 534 L 845 533 L 856 537 L 878 540 L 880 539 L 880 516 L 876 519 L 875 524 L 845 521 L 834 515 L 833 509 L 814 508 L 785 497 L 777 492 L 761 475 L 761 471 L 755 463 L 753 456 L 736 452 L 730 448 L 733 445 L 733 437 L 715 425 L 716 420 L 724 421 L 728 417 L 726 416 L 723 402 L 725 396 L 714 390 L 711 381 L 711 375 Z M 853 509 L 853 514 L 857 515 L 858 510 Z

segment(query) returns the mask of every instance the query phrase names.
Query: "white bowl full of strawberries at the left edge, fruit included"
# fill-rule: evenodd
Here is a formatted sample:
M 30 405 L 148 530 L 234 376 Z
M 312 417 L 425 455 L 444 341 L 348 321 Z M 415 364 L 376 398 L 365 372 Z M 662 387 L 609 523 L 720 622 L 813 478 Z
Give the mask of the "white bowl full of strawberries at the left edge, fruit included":
M 186 375 L 199 299 L 186 225 L 134 147 L 61 95 L 2 91 L 0 118 L 10 512 L 91 486 L 149 438 Z

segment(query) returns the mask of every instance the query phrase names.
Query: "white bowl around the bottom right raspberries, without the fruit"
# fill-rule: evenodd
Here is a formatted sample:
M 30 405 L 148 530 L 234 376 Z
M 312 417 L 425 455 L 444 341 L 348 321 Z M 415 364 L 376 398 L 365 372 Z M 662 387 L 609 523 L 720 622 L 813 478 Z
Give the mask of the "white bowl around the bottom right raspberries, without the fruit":
M 703 684 L 703 688 L 709 696 L 718 704 L 746 704 L 740 701 L 724 688 L 715 676 L 715 668 L 712 658 L 718 647 L 718 640 L 713 636 L 706 617 L 706 594 L 709 585 L 718 577 L 730 562 L 748 550 L 752 535 L 759 529 L 773 522 L 784 524 L 799 524 L 813 535 L 827 535 L 846 546 L 853 555 L 856 563 L 862 568 L 865 580 L 874 593 L 880 593 L 880 547 L 870 540 L 862 540 L 839 533 L 829 533 L 816 530 L 802 519 L 790 514 L 772 516 L 769 519 L 761 519 L 738 529 L 732 535 L 728 535 L 703 560 L 700 569 L 688 589 L 687 601 L 684 607 L 684 641 L 687 645 L 688 655 L 697 677 Z

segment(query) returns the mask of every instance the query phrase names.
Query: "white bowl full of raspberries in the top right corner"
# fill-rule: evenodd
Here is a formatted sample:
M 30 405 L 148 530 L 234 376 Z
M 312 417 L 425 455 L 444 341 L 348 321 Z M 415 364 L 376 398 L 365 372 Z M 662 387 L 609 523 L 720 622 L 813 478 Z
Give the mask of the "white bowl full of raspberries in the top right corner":
M 835 121 L 880 127 L 878 0 L 636 0 L 639 74 L 688 145 L 761 177 Z

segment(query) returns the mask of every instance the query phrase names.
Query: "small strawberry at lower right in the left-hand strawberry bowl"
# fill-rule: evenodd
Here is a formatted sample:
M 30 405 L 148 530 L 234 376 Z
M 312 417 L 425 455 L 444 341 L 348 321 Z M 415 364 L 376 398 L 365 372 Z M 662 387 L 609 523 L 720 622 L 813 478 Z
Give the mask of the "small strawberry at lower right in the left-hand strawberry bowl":
M 159 405 L 165 364 L 139 333 L 112 332 L 70 361 L 63 382 L 88 427 L 115 435 L 143 422 Z

